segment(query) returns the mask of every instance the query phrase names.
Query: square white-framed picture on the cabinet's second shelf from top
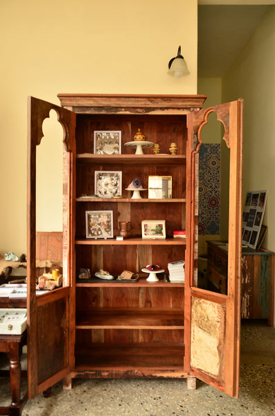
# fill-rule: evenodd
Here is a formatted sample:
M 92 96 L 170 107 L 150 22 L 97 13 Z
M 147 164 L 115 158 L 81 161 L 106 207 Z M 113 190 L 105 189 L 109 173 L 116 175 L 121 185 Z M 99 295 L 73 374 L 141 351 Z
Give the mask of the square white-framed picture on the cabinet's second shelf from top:
M 114 198 L 122 192 L 121 171 L 95 171 L 94 193 L 100 198 Z

